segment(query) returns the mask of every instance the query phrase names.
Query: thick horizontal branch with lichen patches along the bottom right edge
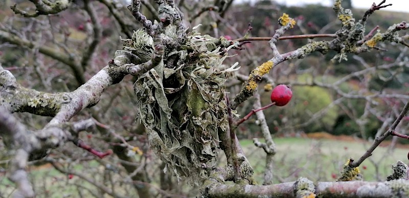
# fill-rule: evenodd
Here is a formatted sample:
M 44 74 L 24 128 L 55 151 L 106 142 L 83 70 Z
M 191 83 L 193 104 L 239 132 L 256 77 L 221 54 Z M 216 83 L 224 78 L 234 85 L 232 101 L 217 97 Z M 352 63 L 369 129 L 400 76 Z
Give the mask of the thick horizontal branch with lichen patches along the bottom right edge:
M 299 180 L 300 181 L 300 180 Z M 211 183 L 202 189 L 205 197 L 308 197 L 297 196 L 296 182 L 287 182 L 267 186 L 254 185 L 228 185 Z M 311 183 L 309 183 L 311 184 Z M 348 197 L 401 197 L 407 194 L 409 182 L 394 180 L 390 182 L 317 182 L 314 184 L 317 197 L 336 197 L 344 194 Z M 311 196 L 315 197 L 315 196 Z

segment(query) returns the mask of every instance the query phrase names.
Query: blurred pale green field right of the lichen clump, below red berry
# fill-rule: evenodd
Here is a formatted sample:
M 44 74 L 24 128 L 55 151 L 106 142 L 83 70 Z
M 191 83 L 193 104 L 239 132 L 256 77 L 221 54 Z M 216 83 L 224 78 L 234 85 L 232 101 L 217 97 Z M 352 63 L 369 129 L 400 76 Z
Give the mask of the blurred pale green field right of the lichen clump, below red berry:
M 246 156 L 255 169 L 256 179 L 262 183 L 265 153 L 252 146 L 252 141 L 241 141 Z M 312 181 L 333 181 L 346 161 L 359 159 L 371 144 L 337 140 L 314 140 L 304 138 L 275 139 L 277 154 L 274 157 L 275 183 L 307 177 Z M 390 165 L 400 160 L 407 163 L 407 150 L 378 147 L 364 161 L 360 170 L 365 181 L 384 181 L 392 174 Z M 365 166 L 365 168 L 364 168 Z

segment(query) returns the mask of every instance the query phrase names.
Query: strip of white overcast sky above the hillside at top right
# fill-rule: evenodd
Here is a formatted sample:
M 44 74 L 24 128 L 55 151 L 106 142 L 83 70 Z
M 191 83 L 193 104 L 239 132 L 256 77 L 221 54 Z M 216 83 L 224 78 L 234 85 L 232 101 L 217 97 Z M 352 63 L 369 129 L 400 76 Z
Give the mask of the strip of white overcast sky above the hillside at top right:
M 280 4 L 286 4 L 287 6 L 294 6 L 298 5 L 301 6 L 303 4 L 317 4 L 320 3 L 324 6 L 332 6 L 333 0 L 276 0 Z M 370 8 L 372 3 L 379 4 L 382 2 L 381 0 L 352 0 L 352 6 L 354 8 Z M 409 12 L 409 1 L 408 0 L 387 0 L 385 4 L 392 4 L 392 6 L 388 6 L 387 8 L 383 8 L 385 10 L 391 11 L 399 11 L 399 12 Z

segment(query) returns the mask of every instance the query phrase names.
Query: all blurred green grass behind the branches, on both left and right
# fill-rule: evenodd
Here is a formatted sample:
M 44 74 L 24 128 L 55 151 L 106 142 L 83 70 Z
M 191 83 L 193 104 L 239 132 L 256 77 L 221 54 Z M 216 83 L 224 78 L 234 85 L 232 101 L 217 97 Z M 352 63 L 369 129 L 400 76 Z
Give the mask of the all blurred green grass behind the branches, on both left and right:
M 358 159 L 370 146 L 370 143 L 364 145 L 358 142 L 326 139 L 278 138 L 274 141 L 277 148 L 277 154 L 274 157 L 274 183 L 295 181 L 299 177 L 306 177 L 312 181 L 333 181 L 333 177 L 339 176 L 340 169 L 350 157 Z M 255 147 L 252 140 L 241 140 L 240 143 L 255 170 L 257 182 L 262 184 L 265 166 L 264 150 Z M 222 154 L 223 152 L 220 152 L 220 156 Z M 406 155 L 407 150 L 405 149 L 390 150 L 388 147 L 378 147 L 373 156 L 360 166 L 363 179 L 365 181 L 385 181 L 387 176 L 392 173 L 390 165 L 396 163 L 397 160 L 407 163 Z M 221 158 L 221 161 L 225 160 Z M 101 165 L 96 161 L 91 161 L 86 166 L 89 169 L 90 167 L 98 168 Z M 363 166 L 366 168 L 364 169 Z M 81 165 L 76 165 L 74 169 L 87 172 L 85 170 L 87 168 Z M 92 178 L 96 181 L 103 181 L 102 178 L 98 177 L 101 175 L 93 175 Z M 67 175 L 52 167 L 32 170 L 30 178 L 39 194 L 37 197 L 77 197 L 79 185 L 89 189 L 89 193 L 95 191 L 92 184 L 77 177 L 68 180 Z M 152 181 L 152 184 L 158 185 L 157 181 Z M 186 185 L 185 187 L 191 188 Z M 118 187 L 117 190 L 132 192 L 129 188 L 130 186 L 122 186 Z M 0 195 L 2 195 L 0 197 L 7 197 L 13 190 L 14 184 L 6 177 L 0 177 Z M 84 197 L 88 197 L 89 193 L 84 193 Z M 124 194 L 133 196 L 128 193 Z

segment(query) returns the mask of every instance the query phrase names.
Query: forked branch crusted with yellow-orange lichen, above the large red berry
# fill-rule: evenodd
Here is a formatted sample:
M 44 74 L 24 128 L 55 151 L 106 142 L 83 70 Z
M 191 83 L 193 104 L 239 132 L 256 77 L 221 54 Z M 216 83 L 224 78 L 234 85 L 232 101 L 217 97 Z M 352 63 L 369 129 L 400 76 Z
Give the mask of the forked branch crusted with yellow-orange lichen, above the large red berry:
M 382 7 L 383 6 L 380 6 L 379 9 Z M 362 40 L 365 39 L 363 36 L 365 26 L 360 23 L 355 24 L 355 19 L 352 16 L 352 12 L 348 9 L 343 9 L 340 6 L 340 0 L 335 2 L 334 10 L 338 16 L 338 19 L 342 22 L 342 28 L 335 33 L 336 38 L 331 41 L 310 42 L 297 50 L 280 54 L 276 47 L 276 43 L 280 36 L 282 36 L 287 29 L 291 28 L 295 24 L 294 19 L 290 18 L 287 14 L 283 14 L 279 20 L 282 27 L 276 31 L 269 42 L 274 54 L 273 57 L 262 63 L 250 73 L 248 80 L 243 83 L 243 89 L 233 98 L 232 109 L 236 109 L 240 103 L 253 96 L 256 92 L 258 83 L 262 79 L 262 76 L 267 74 L 275 65 L 285 60 L 295 58 L 301 59 L 312 52 L 321 52 L 325 54 L 328 51 L 333 50 L 338 52 L 333 59 L 341 61 L 347 58 L 346 53 L 357 54 L 368 52 L 373 49 L 379 49 L 376 48 L 375 45 L 380 41 L 402 43 L 402 38 L 399 37 L 397 32 L 409 28 L 409 24 L 402 21 L 400 24 L 391 26 L 384 33 L 378 32 L 371 39 L 362 42 Z

